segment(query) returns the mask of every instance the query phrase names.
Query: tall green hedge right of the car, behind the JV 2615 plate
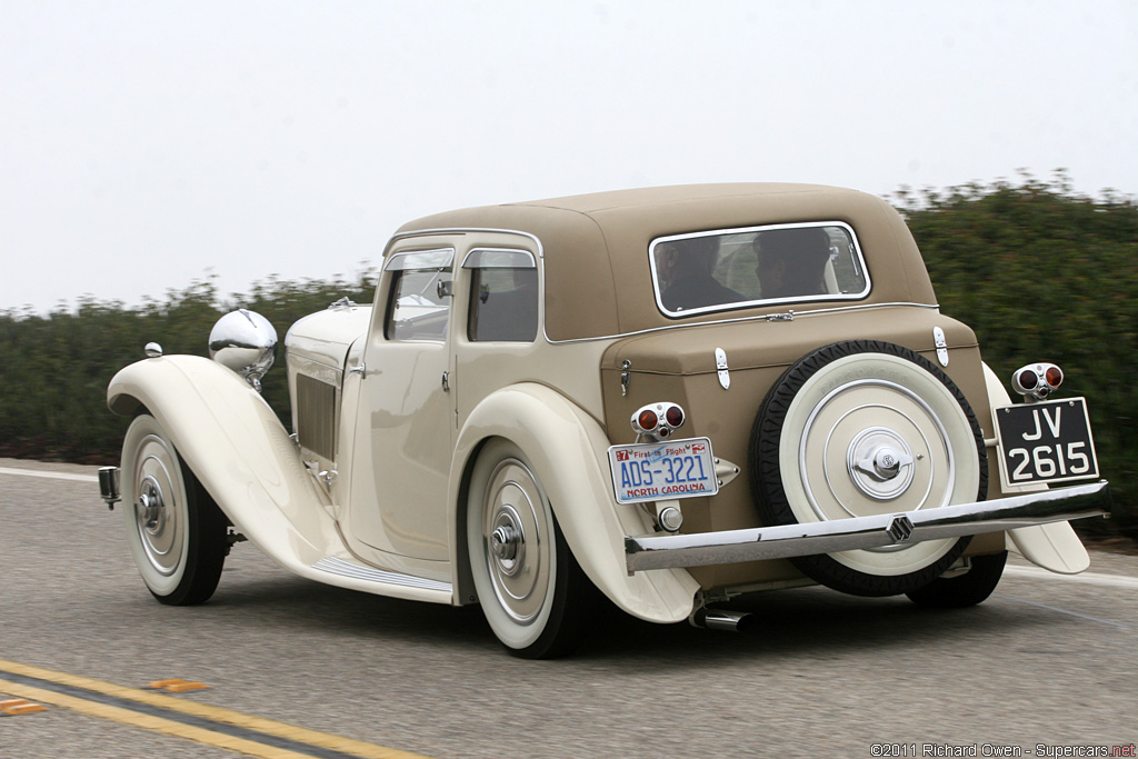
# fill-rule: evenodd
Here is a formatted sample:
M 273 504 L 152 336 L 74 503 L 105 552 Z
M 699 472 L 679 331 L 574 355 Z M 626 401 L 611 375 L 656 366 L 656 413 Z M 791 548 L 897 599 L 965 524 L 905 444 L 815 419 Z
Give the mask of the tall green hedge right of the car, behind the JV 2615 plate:
M 1023 364 L 1063 368 L 1061 395 L 1088 398 L 1095 447 L 1138 537 L 1138 206 L 1050 182 L 897 195 L 941 311 L 972 327 L 1008 382 Z M 1095 527 L 1096 522 L 1083 522 Z M 1102 526 L 1102 522 L 1097 522 Z

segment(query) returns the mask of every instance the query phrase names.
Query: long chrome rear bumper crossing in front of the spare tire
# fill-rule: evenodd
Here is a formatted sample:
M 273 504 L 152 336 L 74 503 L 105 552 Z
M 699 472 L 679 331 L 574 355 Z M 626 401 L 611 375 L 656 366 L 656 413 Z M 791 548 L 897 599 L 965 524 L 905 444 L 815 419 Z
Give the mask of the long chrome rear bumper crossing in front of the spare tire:
M 998 533 L 1110 513 L 1111 490 L 1104 480 L 929 511 L 723 533 L 626 537 L 625 563 L 632 575 L 645 569 L 787 559 Z

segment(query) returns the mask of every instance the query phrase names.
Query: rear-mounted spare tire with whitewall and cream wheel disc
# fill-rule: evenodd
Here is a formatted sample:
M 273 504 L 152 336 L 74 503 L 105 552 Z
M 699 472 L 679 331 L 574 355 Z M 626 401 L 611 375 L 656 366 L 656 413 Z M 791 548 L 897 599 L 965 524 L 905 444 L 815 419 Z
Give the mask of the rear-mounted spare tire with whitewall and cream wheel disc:
M 983 500 L 988 456 L 964 394 L 932 362 L 877 340 L 802 357 L 762 402 L 751 493 L 766 525 L 935 509 Z M 805 575 L 855 595 L 927 585 L 970 537 L 798 556 Z

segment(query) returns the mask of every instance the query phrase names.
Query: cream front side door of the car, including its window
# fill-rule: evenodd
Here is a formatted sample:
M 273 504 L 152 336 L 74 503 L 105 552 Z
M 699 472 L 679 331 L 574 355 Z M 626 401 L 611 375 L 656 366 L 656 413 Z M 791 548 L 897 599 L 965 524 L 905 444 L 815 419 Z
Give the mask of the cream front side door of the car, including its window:
M 349 529 L 398 556 L 446 561 L 446 496 L 454 438 L 453 247 L 398 250 L 384 266 L 386 300 L 364 350 Z

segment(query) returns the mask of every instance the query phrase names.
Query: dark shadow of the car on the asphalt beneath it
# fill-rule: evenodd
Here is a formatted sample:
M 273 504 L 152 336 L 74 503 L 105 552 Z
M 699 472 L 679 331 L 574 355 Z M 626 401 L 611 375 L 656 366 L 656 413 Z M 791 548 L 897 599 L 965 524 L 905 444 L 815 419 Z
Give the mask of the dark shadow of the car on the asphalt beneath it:
M 346 638 L 429 642 L 456 651 L 489 649 L 497 642 L 477 605 L 453 608 L 389 599 L 281 576 L 249 583 L 223 581 L 206 613 L 239 612 L 256 625 L 288 625 L 294 630 L 335 632 Z M 1055 614 L 990 599 L 968 609 L 932 610 L 905 596 L 865 599 L 820 587 L 777 591 L 736 602 L 734 609 L 756 616 L 745 633 L 699 629 L 686 622 L 655 625 L 635 619 L 604 603 L 596 614 L 578 659 L 655 666 L 661 658 L 700 666 L 737 662 L 772 654 L 797 655 L 819 651 L 910 649 L 935 643 L 951 633 L 962 637 L 1022 634 L 1052 626 Z M 232 621 L 232 620 L 231 620 Z

